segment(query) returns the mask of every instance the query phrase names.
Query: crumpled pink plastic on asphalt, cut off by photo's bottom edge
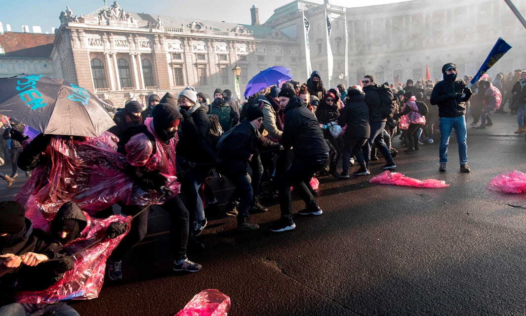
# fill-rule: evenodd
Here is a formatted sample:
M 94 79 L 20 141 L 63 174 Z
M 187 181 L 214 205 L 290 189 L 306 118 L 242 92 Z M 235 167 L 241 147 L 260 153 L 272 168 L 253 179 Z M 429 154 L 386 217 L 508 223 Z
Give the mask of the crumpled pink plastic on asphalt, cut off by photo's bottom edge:
M 174 316 L 227 316 L 230 298 L 216 289 L 199 292 Z

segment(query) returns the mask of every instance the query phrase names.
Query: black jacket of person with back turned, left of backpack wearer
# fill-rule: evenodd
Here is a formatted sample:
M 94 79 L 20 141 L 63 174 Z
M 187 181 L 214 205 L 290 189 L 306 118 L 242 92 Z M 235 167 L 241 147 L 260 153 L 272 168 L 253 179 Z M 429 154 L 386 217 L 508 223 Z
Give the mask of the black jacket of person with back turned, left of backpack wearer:
M 341 127 L 347 124 L 343 138 L 369 138 L 369 107 L 363 98 L 363 94 L 350 95 L 345 107 L 341 109 L 338 124 Z

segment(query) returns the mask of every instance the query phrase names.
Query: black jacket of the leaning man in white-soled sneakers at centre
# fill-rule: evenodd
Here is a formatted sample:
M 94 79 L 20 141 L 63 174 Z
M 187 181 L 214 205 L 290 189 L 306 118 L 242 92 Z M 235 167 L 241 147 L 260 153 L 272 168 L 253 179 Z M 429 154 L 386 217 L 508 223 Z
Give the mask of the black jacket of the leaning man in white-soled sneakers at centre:
M 328 157 L 329 146 L 320 123 L 299 97 L 293 97 L 285 107 L 285 122 L 281 145 L 291 147 L 296 157 Z

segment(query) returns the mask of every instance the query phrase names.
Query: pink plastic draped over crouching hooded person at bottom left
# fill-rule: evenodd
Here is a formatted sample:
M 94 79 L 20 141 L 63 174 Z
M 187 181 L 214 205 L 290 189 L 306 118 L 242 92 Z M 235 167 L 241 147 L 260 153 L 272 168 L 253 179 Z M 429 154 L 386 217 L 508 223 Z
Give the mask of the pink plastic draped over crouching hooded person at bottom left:
M 66 245 L 66 248 L 74 253 L 75 268 L 64 273 L 60 281 L 42 291 L 23 291 L 16 295 L 16 301 L 21 303 L 53 303 L 61 300 L 85 300 L 95 299 L 100 293 L 104 283 L 104 271 L 106 260 L 119 242 L 128 233 L 130 224 L 124 234 L 115 239 L 104 238 L 106 229 L 112 222 L 125 222 L 128 217 L 112 215 L 107 219 L 99 220 L 90 218 L 86 212 L 86 228 L 80 234 L 80 238 Z M 94 241 L 104 238 L 86 250 L 86 246 Z M 82 251 L 80 251 L 82 250 Z M 78 254 L 76 252 L 80 251 Z

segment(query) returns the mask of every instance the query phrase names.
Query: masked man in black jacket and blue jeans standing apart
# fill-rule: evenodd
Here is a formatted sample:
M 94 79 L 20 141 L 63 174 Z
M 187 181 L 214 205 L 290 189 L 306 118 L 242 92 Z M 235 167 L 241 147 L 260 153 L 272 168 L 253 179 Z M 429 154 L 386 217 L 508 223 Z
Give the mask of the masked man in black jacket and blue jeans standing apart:
M 457 66 L 447 63 L 442 66 L 444 80 L 437 83 L 431 92 L 430 102 L 438 105 L 440 116 L 440 167 L 439 171 L 446 171 L 448 162 L 448 144 L 451 131 L 455 129 L 459 144 L 460 171 L 470 172 L 468 166 L 468 143 L 466 141 L 466 105 L 471 96 L 471 90 L 462 80 L 457 80 Z

